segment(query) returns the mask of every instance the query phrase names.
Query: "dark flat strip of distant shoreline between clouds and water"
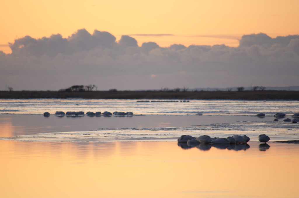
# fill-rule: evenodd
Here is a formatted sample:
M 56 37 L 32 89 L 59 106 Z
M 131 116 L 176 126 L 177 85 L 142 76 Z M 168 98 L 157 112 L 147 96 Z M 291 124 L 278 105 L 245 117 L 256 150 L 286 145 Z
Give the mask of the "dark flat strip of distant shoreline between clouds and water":
M 0 98 L 299 100 L 299 91 L 0 91 Z

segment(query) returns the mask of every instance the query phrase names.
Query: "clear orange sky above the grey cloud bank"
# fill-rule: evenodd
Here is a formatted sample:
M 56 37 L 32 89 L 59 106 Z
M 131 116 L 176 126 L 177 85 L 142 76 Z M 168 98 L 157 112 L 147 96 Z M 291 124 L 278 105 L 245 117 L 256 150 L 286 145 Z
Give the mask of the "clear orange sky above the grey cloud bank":
M 11 52 L 8 42 L 26 35 L 68 37 L 81 28 L 90 33 L 108 31 L 117 40 L 131 35 L 139 46 L 152 41 L 161 47 L 238 46 L 244 34 L 263 32 L 272 38 L 299 34 L 297 0 L 11 0 L 1 2 L 1 7 L 0 50 L 5 53 Z

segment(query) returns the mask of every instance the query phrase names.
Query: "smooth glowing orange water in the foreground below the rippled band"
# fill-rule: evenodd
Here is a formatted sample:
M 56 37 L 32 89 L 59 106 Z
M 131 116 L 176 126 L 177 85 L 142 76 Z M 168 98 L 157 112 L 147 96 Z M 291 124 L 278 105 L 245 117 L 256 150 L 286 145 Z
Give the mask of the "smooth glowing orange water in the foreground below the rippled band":
M 0 141 L 1 197 L 296 197 L 299 146 Z M 16 190 L 17 189 L 17 190 Z

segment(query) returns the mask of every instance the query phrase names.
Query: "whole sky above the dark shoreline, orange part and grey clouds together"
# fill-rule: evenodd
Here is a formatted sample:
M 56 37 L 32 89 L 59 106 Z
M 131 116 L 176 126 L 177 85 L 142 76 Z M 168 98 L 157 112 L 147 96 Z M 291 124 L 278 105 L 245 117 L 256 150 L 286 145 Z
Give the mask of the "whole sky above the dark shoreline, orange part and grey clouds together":
M 299 1 L 1 2 L 0 90 L 298 86 Z

